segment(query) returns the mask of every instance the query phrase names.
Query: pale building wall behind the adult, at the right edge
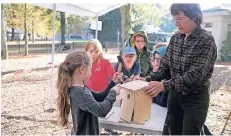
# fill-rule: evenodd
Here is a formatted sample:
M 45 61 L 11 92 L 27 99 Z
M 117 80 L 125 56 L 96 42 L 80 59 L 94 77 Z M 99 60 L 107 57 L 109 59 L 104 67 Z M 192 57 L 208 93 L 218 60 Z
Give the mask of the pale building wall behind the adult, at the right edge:
M 208 27 L 209 23 L 212 24 Z M 207 24 L 207 27 L 206 27 Z M 220 59 L 220 50 L 223 42 L 227 39 L 228 25 L 231 24 L 231 14 L 204 14 L 202 28 L 210 31 L 217 45 L 218 60 Z

